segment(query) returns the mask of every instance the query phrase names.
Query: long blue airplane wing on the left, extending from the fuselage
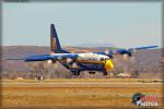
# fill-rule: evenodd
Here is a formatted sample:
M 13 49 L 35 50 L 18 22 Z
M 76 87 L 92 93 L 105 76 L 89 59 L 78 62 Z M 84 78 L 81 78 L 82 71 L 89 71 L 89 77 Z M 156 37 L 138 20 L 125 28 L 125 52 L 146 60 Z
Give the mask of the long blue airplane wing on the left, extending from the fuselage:
M 38 56 L 27 56 L 24 58 L 13 58 L 13 59 L 7 59 L 7 60 L 24 60 L 24 61 L 46 61 L 46 60 L 54 60 L 59 61 L 62 59 L 77 59 L 77 53 L 54 53 L 54 55 L 38 55 Z

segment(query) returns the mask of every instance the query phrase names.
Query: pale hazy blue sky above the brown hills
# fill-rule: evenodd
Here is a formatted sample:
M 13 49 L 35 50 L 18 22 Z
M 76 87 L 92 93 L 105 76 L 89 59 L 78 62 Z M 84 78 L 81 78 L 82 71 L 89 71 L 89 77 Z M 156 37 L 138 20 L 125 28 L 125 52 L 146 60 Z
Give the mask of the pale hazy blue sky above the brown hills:
M 2 45 L 49 46 L 55 24 L 61 45 L 161 46 L 160 2 L 3 3 Z

